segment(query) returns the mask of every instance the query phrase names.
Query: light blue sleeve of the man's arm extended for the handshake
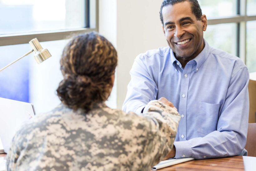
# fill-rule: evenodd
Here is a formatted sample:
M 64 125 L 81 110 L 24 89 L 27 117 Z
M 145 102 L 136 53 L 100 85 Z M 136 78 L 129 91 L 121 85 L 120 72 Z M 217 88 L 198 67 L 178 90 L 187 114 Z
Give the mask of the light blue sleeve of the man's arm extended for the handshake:
M 148 102 L 156 99 L 158 88 L 153 76 L 148 72 L 143 54 L 136 57 L 130 75 L 131 80 L 122 110 L 138 114 Z

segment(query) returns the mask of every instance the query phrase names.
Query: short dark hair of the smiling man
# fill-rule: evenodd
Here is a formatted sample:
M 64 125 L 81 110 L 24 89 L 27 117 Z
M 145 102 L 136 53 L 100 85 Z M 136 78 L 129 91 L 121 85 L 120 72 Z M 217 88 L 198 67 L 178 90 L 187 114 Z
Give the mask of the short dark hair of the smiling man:
M 161 20 L 163 26 L 164 26 L 164 19 L 163 19 L 163 13 L 162 13 L 163 7 L 166 7 L 168 5 L 174 5 L 176 3 L 185 2 L 185 1 L 190 2 L 191 11 L 193 12 L 193 14 L 195 15 L 197 20 L 201 20 L 202 10 L 201 10 L 201 7 L 197 0 L 164 0 L 162 2 L 160 12 L 159 12 L 160 20 Z

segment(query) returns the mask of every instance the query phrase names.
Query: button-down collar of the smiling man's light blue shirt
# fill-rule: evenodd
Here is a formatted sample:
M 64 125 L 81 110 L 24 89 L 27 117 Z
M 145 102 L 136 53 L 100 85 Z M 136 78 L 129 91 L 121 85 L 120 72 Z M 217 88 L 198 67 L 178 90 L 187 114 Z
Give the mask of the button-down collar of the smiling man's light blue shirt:
M 204 40 L 204 49 L 202 50 L 201 53 L 199 53 L 199 55 L 196 58 L 193 59 L 196 62 L 196 68 L 199 68 L 204 63 L 204 61 L 208 58 L 209 54 L 210 54 L 210 46 L 207 43 L 207 41 Z M 173 67 L 176 69 L 176 71 L 178 71 L 177 63 L 179 63 L 180 67 L 181 67 L 181 64 L 175 58 L 174 52 L 171 49 L 170 49 L 170 56 L 171 56 L 171 62 L 172 62 Z

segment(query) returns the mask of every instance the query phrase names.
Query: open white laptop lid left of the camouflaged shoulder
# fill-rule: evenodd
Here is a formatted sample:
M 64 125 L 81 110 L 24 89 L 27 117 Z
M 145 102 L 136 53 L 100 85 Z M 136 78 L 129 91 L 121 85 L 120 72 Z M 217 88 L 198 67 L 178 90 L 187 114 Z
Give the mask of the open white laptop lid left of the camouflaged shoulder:
M 5 153 L 8 153 L 17 130 L 35 114 L 31 103 L 0 98 L 0 137 Z

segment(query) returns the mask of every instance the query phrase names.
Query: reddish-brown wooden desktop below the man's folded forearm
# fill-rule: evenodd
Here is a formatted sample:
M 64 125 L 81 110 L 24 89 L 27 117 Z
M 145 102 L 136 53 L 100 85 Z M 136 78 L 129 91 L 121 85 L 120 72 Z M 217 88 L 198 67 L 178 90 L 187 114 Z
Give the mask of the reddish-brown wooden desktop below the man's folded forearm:
M 185 163 L 176 164 L 167 168 L 159 169 L 159 171 L 190 171 L 190 170 L 204 170 L 204 171 L 255 171 L 256 157 L 247 156 L 233 156 L 216 159 L 202 159 L 191 160 Z

